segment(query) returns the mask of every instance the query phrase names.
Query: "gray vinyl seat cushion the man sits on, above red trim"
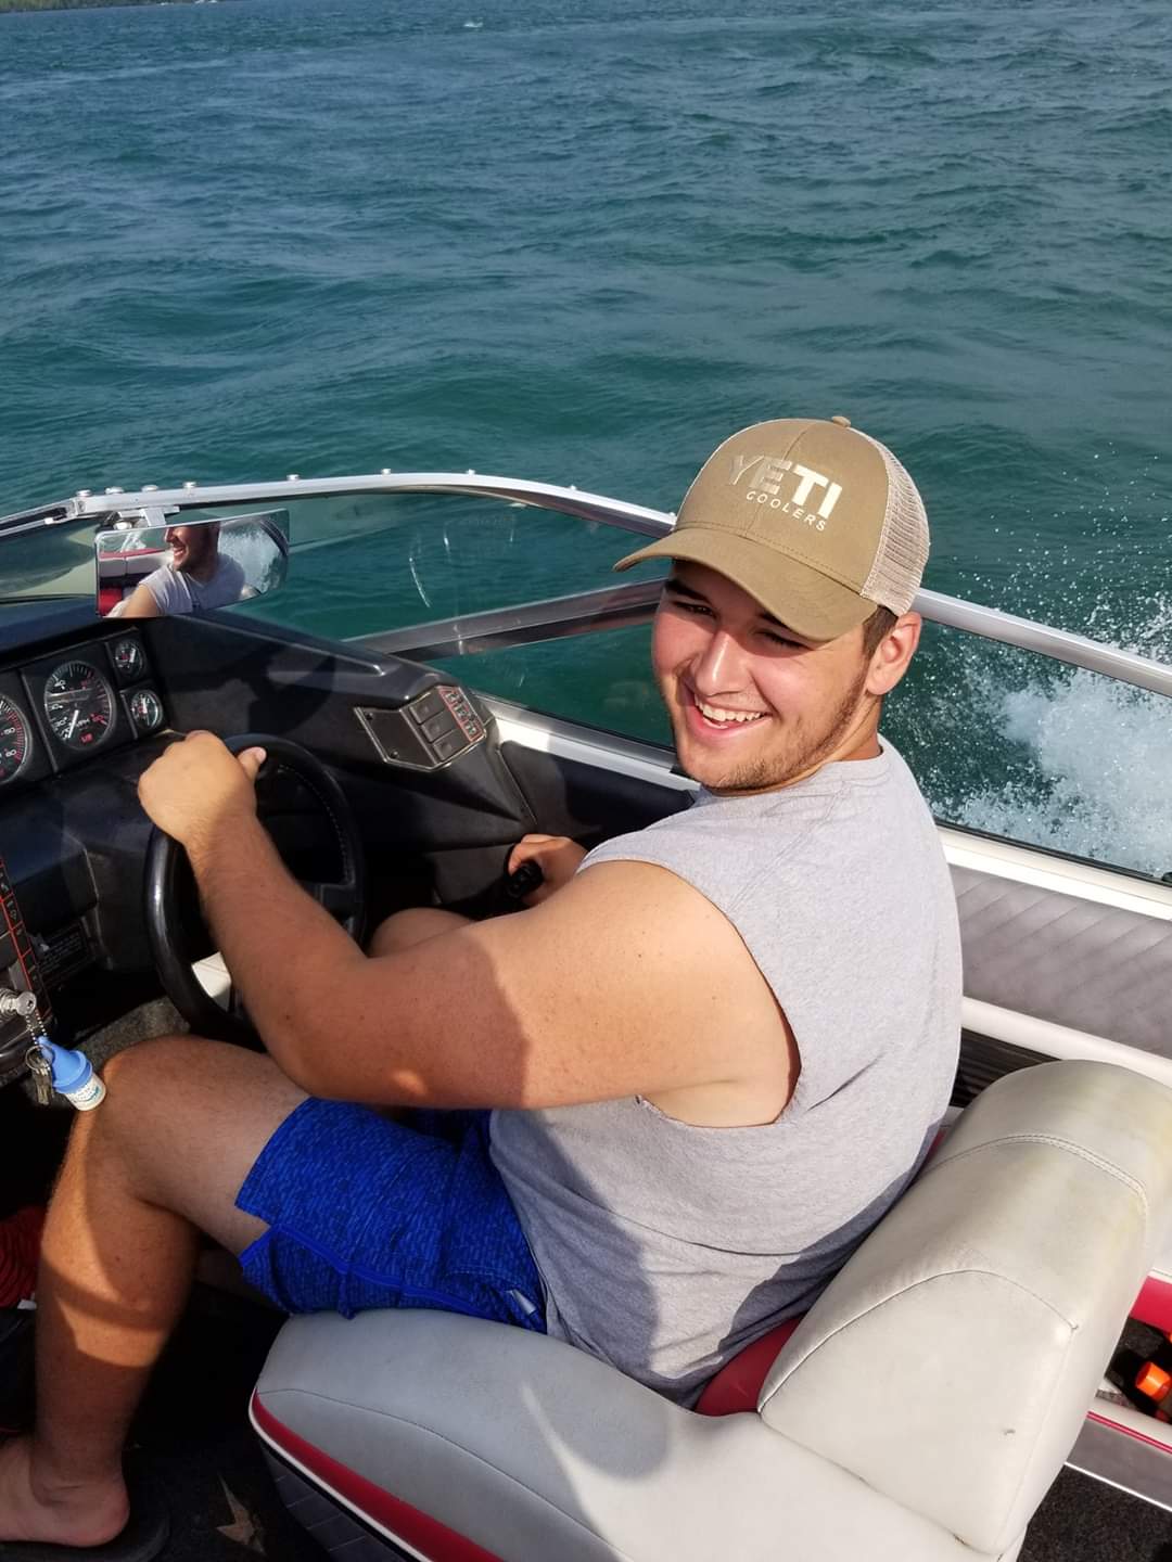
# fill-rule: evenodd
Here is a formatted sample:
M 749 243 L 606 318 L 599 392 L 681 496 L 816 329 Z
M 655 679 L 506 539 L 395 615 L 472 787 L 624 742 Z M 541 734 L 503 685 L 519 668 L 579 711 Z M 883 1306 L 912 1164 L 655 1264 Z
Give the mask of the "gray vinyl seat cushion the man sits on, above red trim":
M 972 1562 L 759 1417 L 694 1415 L 506 1325 L 295 1318 L 258 1392 L 302 1437 L 503 1562 L 853 1562 L 861 1534 L 877 1562 Z

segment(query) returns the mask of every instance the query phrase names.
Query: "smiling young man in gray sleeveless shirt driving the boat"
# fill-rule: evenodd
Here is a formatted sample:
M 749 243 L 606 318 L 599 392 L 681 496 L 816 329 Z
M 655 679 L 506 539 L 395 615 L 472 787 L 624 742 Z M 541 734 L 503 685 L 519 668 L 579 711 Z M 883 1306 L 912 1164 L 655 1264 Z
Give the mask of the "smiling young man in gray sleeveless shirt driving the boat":
M 691 1403 L 905 1187 L 959 1036 L 947 868 L 878 737 L 919 639 L 919 495 L 845 419 L 763 423 L 619 567 L 655 556 L 655 675 L 700 795 L 577 873 L 572 843 L 528 840 L 514 864 L 547 886 L 522 915 L 405 912 L 367 956 L 259 826 L 259 751 L 192 734 L 145 772 L 270 1056 L 173 1037 L 108 1068 L 47 1223 L 0 1535 L 125 1521 L 122 1439 L 198 1231 L 289 1311 L 547 1328 Z M 442 1137 L 344 1103 L 481 1112 Z

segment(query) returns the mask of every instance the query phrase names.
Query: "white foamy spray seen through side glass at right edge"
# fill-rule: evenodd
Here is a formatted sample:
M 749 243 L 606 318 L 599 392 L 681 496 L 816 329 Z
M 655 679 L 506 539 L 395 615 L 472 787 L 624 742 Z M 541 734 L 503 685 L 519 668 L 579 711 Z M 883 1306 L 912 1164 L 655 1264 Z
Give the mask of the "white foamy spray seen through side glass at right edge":
M 1172 601 L 1152 606 L 1125 648 L 1172 662 Z M 1081 669 L 1006 690 L 975 659 L 966 658 L 974 709 L 1028 750 L 1036 776 L 983 787 L 949 817 L 1142 873 L 1172 872 L 1172 701 Z

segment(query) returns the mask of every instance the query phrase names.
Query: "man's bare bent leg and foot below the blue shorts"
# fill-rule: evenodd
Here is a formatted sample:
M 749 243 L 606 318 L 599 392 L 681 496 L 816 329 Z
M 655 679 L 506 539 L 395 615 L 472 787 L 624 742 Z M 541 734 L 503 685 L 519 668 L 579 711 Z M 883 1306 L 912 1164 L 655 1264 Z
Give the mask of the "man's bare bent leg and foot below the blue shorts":
M 5 1540 L 97 1545 L 122 1529 L 122 1445 L 188 1300 L 197 1234 L 241 1253 L 266 1231 L 236 1193 L 305 1100 L 269 1057 L 198 1037 L 142 1042 L 103 1076 L 45 1221 L 36 1431 L 0 1446 Z

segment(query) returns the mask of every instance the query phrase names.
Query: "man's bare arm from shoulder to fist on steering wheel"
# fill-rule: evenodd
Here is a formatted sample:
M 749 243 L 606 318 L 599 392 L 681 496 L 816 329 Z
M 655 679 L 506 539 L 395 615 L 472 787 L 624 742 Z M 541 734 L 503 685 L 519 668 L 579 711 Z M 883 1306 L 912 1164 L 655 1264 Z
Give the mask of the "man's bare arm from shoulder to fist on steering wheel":
M 663 868 L 591 868 L 533 911 L 367 959 L 280 862 L 252 808 L 255 764 L 208 734 L 169 753 L 205 758 L 172 798 L 148 772 L 144 803 L 163 828 L 183 801 L 198 815 L 172 823 L 220 951 L 303 1089 L 533 1107 L 769 1081 L 777 1109 L 788 1100 L 772 993 L 731 925 Z

